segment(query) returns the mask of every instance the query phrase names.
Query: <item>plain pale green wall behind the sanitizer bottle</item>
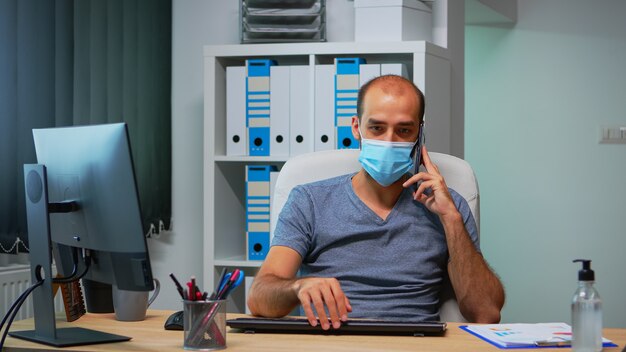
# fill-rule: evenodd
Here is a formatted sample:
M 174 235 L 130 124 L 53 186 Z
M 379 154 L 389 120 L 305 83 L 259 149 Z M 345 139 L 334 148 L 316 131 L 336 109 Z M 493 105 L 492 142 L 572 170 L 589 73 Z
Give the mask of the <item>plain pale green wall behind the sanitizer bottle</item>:
M 466 28 L 466 158 L 506 322 L 570 321 L 593 260 L 605 326 L 626 327 L 626 2 L 518 1 L 514 28 Z

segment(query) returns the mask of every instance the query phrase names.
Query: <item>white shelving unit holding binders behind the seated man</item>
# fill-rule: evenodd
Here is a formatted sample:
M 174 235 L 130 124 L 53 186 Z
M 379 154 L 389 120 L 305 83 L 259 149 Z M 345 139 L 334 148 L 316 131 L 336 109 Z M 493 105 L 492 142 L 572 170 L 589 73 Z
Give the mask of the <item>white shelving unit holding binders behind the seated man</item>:
M 260 261 L 245 260 L 245 165 L 270 164 L 279 169 L 286 157 L 226 155 L 226 67 L 249 58 L 273 59 L 279 65 L 332 64 L 337 57 L 363 57 L 368 63 L 403 63 L 426 96 L 429 150 L 450 152 L 450 61 L 448 50 L 434 44 L 289 43 L 204 47 L 204 282 L 211 287 L 223 267 L 238 267 L 253 276 Z M 313 88 L 313 87 L 312 87 Z M 314 92 L 314 89 L 310 90 Z M 311 97 L 312 99 L 313 97 Z M 311 104 L 311 110 L 313 109 Z M 310 111 L 313 116 L 313 111 Z M 242 289 L 235 291 L 229 312 L 244 312 Z

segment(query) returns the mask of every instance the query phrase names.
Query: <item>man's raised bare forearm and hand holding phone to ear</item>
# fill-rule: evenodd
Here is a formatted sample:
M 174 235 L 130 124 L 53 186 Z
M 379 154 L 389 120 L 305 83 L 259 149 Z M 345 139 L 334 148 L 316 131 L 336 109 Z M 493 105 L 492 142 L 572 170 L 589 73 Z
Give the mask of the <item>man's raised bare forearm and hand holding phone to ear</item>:
M 404 183 L 421 184 L 414 193 L 415 200 L 439 215 L 446 234 L 448 274 L 465 318 L 478 323 L 497 323 L 504 305 L 504 288 L 472 243 L 458 209 L 454 205 L 448 186 L 432 163 L 426 147 L 422 149 L 426 172 L 420 172 Z M 429 189 L 429 192 L 426 190 Z

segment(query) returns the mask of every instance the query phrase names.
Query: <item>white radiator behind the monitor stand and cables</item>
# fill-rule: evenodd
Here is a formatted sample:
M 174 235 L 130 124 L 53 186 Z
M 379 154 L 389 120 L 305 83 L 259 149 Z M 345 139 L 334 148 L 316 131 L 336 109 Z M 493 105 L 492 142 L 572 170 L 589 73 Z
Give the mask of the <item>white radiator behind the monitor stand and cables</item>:
M 4 317 L 17 297 L 26 291 L 30 285 L 30 265 L 13 264 L 0 267 L 0 317 Z M 63 297 L 60 292 L 54 297 L 54 310 L 57 313 L 64 311 Z M 28 297 L 17 313 L 15 320 L 32 318 L 32 316 L 32 297 Z

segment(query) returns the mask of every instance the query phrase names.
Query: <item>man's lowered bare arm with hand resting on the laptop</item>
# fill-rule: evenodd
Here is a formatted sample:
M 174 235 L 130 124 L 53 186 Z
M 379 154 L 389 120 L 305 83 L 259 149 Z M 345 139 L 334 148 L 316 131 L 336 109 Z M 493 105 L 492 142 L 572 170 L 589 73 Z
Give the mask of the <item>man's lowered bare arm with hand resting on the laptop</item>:
M 298 304 L 311 325 L 317 325 L 313 308 L 319 314 L 322 328 L 330 328 L 324 306 L 328 308 L 334 328 L 340 321 L 348 319 L 352 310 L 339 282 L 334 278 L 296 279 L 302 257 L 289 247 L 271 247 L 261 269 L 254 278 L 248 294 L 248 307 L 253 315 L 282 317 L 289 314 Z

